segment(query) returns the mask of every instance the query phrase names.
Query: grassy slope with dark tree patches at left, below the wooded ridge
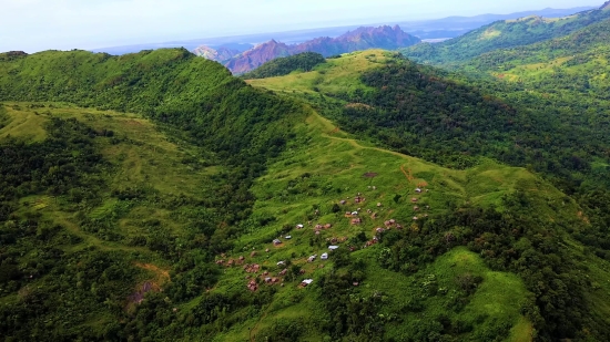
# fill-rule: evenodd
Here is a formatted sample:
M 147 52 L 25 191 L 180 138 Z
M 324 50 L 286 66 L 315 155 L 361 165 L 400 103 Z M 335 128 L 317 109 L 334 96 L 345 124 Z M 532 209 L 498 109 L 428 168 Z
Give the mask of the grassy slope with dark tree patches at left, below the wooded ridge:
M 27 103 L 7 113 L 10 124 L 0 131 L 10 136 L 0 141 L 6 339 L 116 339 L 139 293 L 202 271 L 207 280 L 193 290 L 213 284 L 213 268 L 176 263 L 209 259 L 213 249 L 203 237 L 213 238 L 222 219 L 209 196 L 221 191 L 214 177 L 223 169 L 203 166 L 205 152 L 133 114 Z M 32 139 L 33 126 L 45 137 Z M 212 243 L 223 248 L 218 242 Z

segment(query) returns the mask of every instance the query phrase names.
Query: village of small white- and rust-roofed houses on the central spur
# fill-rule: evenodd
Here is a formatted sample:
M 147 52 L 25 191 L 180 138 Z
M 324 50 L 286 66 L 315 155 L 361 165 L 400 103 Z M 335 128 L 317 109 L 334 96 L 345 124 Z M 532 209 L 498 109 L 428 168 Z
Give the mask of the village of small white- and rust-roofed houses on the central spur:
M 427 184 L 424 184 L 427 186 Z M 376 186 L 369 186 L 369 190 L 377 190 Z M 428 217 L 427 211 L 430 206 L 426 205 L 426 194 L 430 190 L 424 186 L 415 188 L 410 194 L 413 204 L 413 221 L 425 219 Z M 307 221 L 306 224 L 296 224 L 292 227 L 292 232 L 287 231 L 282 236 L 273 239 L 271 243 L 258 251 L 253 248 L 248 257 L 241 255 L 240 257 L 222 253 L 216 258 L 216 263 L 226 268 L 240 267 L 244 272 L 245 287 L 250 291 L 257 291 L 262 286 L 279 286 L 284 287 L 289 277 L 289 280 L 302 279 L 298 282 L 298 288 L 306 288 L 312 284 L 315 279 L 308 278 L 316 268 L 324 268 L 325 262 L 333 259 L 333 253 L 340 250 L 349 252 L 358 249 L 367 248 L 378 243 L 383 239 L 384 232 L 392 229 L 418 229 L 411 222 L 398 222 L 394 218 L 382 220 L 383 216 L 390 215 L 392 210 L 386 210 L 383 203 L 368 203 L 364 193 L 357 193 L 354 198 L 340 199 L 333 205 L 335 210 L 343 210 L 344 219 L 350 226 L 374 227 L 365 235 L 365 241 L 356 245 L 353 236 L 337 236 L 333 231 L 334 224 Z M 314 216 L 319 216 L 318 209 L 314 211 Z M 288 248 L 293 240 L 293 235 L 301 238 L 317 237 L 326 241 L 327 250 L 317 251 L 308 257 L 295 257 L 288 260 L 275 260 L 274 251 L 283 248 Z M 291 273 L 289 273 L 291 272 Z M 359 282 L 353 283 L 355 287 Z

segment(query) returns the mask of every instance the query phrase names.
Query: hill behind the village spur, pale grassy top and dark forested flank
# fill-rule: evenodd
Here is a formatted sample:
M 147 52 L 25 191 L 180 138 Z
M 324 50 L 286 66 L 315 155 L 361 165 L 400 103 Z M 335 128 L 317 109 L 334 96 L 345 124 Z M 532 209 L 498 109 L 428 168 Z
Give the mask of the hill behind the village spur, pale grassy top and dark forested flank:
M 468 79 L 383 51 L 248 82 L 305 96 L 344 129 L 395 151 L 458 168 L 485 155 L 543 173 L 570 193 L 583 184 L 584 174 L 591 176 L 591 165 L 607 159 L 602 151 L 610 146 L 606 138 L 590 138 L 597 128 L 569 110 L 514 85 Z M 606 186 L 599 177 L 586 184 L 593 183 Z

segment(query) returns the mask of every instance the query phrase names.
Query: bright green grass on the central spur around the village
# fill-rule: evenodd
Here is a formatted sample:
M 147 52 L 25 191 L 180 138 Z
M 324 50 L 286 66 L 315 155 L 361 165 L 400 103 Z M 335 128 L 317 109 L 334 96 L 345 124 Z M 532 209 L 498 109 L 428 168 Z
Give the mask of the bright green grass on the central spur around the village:
M 329 121 L 314 112 L 306 123 L 296 128 L 296 132 L 299 138 L 270 166 L 267 175 L 260 178 L 253 188 L 258 198 L 253 216 L 274 217 L 275 220 L 264 226 L 253 225 L 248 234 L 237 240 L 233 252 L 226 256 L 226 259 L 244 256 L 245 263 L 258 263 L 272 276 L 281 270 L 276 266 L 278 261 L 291 260 L 306 270 L 302 278 L 319 279 L 322 274 L 329 271 L 332 263 L 319 259 L 308 263 L 306 258 L 327 251 L 329 239 L 349 238 L 359 231 L 372 237 L 375 228 L 390 218 L 403 226 L 408 226 L 416 215 L 421 217 L 425 214 L 435 215 L 448 210 L 451 201 L 497 206 L 500 204 L 501 196 L 514 190 L 517 185 L 526 184 L 536 187 L 536 183 L 539 182 L 525 169 L 505 167 L 492 162 L 472 169 L 454 170 L 367 146 L 348 134 L 337 131 Z M 407 177 L 403 169 L 410 177 Z M 375 173 L 377 176 L 366 178 L 363 176 L 365 173 Z M 421 184 L 427 184 L 425 188 L 429 191 L 418 195 L 414 190 Z M 540 186 L 538 190 L 545 193 L 548 189 Z M 353 201 L 358 193 L 366 198 L 365 203 Z M 396 195 L 403 197 L 395 201 Z M 429 205 L 430 209 L 414 211 L 411 197 L 419 199 L 420 207 Z M 347 205 L 342 207 L 339 213 L 333 213 L 331 210 L 333 204 L 342 199 L 347 200 Z M 377 207 L 378 203 L 382 204 L 380 207 Z M 314 213 L 315 208 L 319 210 L 317 216 Z M 372 219 L 368 214 L 362 215 L 364 224 L 352 226 L 344 213 L 357 208 L 360 208 L 360 213 L 364 214 L 370 209 L 378 213 L 379 217 Z M 305 225 L 305 229 L 294 229 L 297 224 Z M 323 242 L 312 245 L 309 241 L 316 239 L 313 229 L 316 224 L 332 224 L 333 228 L 322 231 L 319 239 Z M 285 226 L 293 228 L 289 232 L 282 235 L 281 231 Z M 285 240 L 284 237 L 288 234 L 293 238 Z M 283 240 L 282 246 L 273 246 L 272 240 L 275 238 Z M 266 249 L 270 251 L 266 252 Z M 251 258 L 252 251 L 256 251 L 256 256 Z M 527 291 L 517 276 L 492 272 L 478 256 L 465 248 L 458 248 L 439 258 L 427 270 L 406 277 L 376 267 L 375 258 L 378 252 L 379 247 L 372 247 L 354 253 L 355 258 L 366 259 L 369 265 L 362 293 L 379 290 L 387 293 L 393 305 L 399 305 L 406 300 L 404 294 L 418 291 L 421 279 L 428 274 L 435 274 L 439 284 L 451 289 L 456 287 L 457 274 L 471 272 L 484 277 L 485 281 L 471 298 L 470 304 L 465 308 L 465 319 L 474 321 L 475 318 L 485 315 L 489 319 L 512 322 L 511 335 L 515 336 L 512 340 L 528 341 L 522 336 L 527 335 L 531 327 L 518 312 L 518 303 L 525 298 Z M 326 267 L 319 268 L 321 265 Z M 214 291 L 220 293 L 247 291 L 247 280 L 244 279 L 244 274 L 241 267 L 227 268 Z M 262 330 L 273 324 L 279 317 L 299 317 L 303 312 L 323 317 L 324 311 L 309 296 L 302 298 L 299 294 L 299 292 L 316 291 L 315 286 L 298 289 L 297 283 L 298 281 L 286 283 L 283 288 L 278 287 L 273 302 L 258 320 L 236 325 L 218 335 L 216 341 L 248 339 L 248 329 Z M 430 300 L 427 303 L 429 309 L 425 314 L 433 317 L 441 313 L 445 300 L 446 298 Z M 398 325 L 389 327 L 388 331 L 392 335 L 405 333 L 404 327 Z M 304 340 L 314 338 L 305 336 Z

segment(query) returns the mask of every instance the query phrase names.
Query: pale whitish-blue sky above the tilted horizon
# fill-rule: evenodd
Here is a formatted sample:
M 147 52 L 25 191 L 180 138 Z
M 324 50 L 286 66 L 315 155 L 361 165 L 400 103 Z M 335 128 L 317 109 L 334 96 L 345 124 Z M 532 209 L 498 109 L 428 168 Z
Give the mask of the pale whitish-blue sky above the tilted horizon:
M 604 0 L 0 0 L 0 52 L 601 6 Z

